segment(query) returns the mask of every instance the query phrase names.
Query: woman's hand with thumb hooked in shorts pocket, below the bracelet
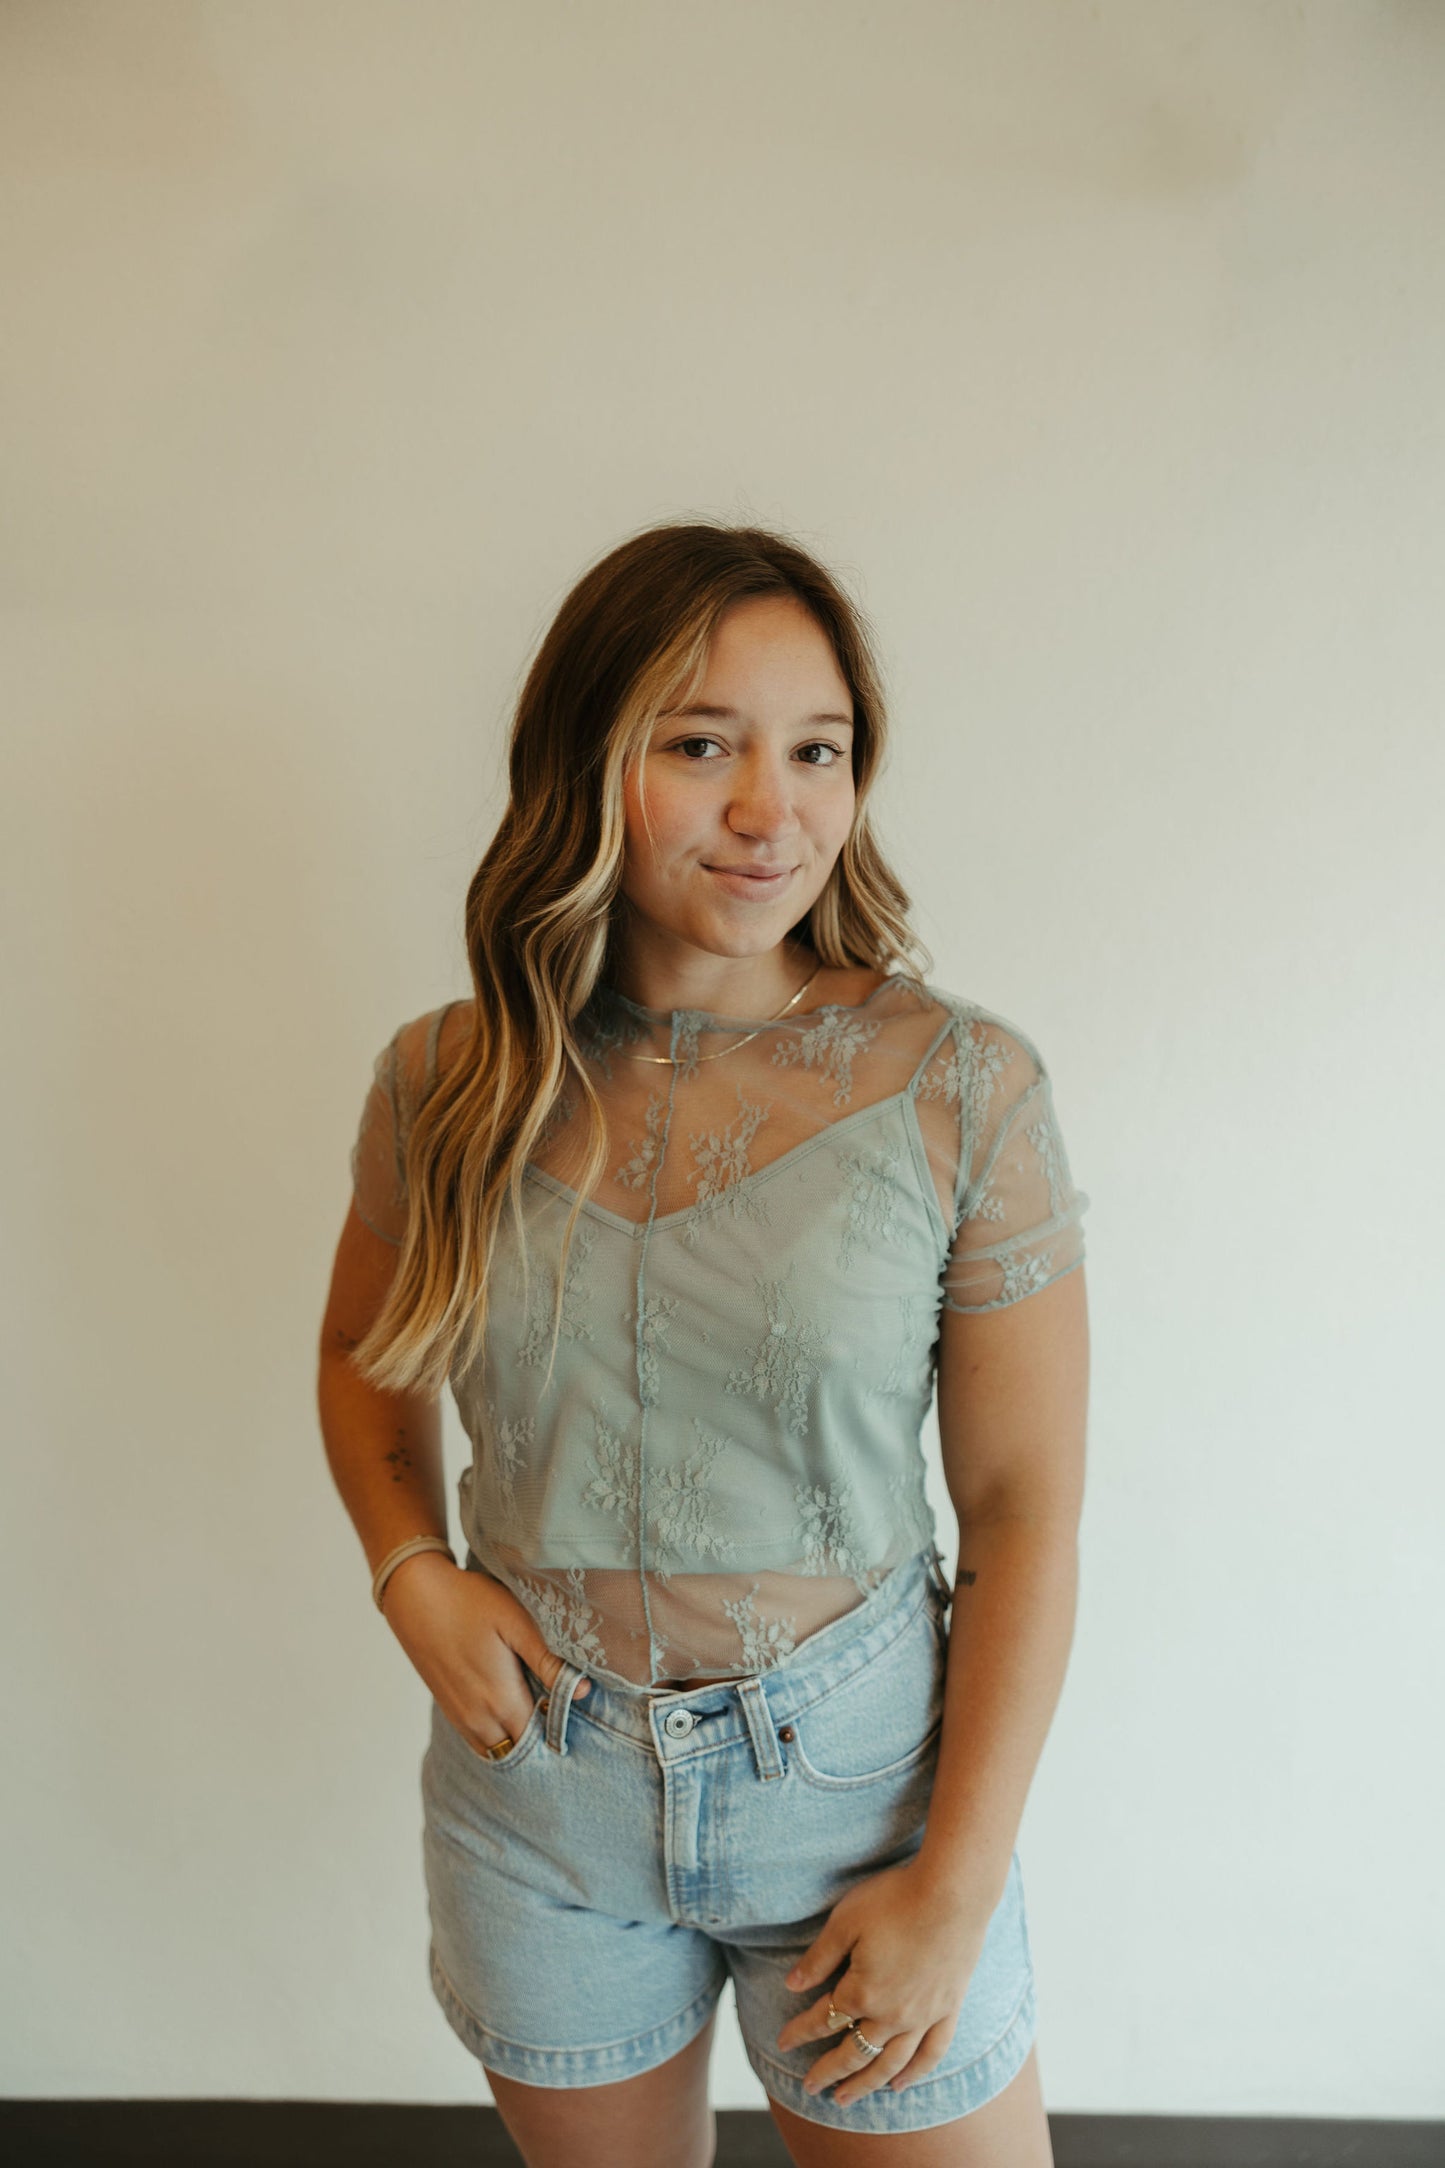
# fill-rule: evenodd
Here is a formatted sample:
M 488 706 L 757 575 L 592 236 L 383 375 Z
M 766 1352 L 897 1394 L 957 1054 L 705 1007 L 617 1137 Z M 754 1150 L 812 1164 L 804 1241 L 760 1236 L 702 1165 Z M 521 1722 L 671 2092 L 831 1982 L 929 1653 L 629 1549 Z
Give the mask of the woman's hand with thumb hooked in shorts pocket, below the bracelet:
M 479 1752 L 520 1739 L 531 1719 L 522 1663 L 548 1691 L 557 1685 L 561 1656 L 531 1611 L 492 1574 L 472 1574 L 440 1550 L 418 1550 L 392 1570 L 381 1611 L 446 1721 Z M 587 1693 L 583 1680 L 576 1698 Z

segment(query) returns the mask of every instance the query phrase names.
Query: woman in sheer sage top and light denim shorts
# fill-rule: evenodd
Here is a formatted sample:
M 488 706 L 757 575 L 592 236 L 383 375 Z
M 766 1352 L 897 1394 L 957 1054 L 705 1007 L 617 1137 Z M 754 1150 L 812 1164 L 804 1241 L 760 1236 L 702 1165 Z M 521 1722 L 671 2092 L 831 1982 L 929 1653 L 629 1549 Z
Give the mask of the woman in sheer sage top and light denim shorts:
M 321 1420 L 431 1691 L 431 1982 L 533 2168 L 706 2168 L 728 1977 L 795 2161 L 1053 2157 L 1014 1836 L 1072 1635 L 1088 1197 L 1033 1043 L 921 976 L 882 754 L 810 555 L 624 542 L 518 705 L 474 993 L 362 1110 Z

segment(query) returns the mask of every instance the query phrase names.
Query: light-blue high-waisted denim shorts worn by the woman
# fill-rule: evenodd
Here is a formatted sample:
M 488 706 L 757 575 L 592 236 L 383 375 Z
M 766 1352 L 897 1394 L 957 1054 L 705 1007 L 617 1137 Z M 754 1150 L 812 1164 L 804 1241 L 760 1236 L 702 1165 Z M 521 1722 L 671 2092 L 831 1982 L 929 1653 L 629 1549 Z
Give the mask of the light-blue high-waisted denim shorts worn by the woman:
M 481 1565 L 468 1552 L 468 1567 Z M 923 1550 L 765 1674 L 648 1689 L 563 1661 L 492 1760 L 431 1704 L 422 1760 L 433 1992 L 479 2062 L 602 2086 L 676 2055 L 728 1977 L 763 2090 L 810 2122 L 921 2131 L 1007 2086 L 1036 2029 L 1018 1854 L 942 2062 L 901 2092 L 804 2092 L 828 2038 L 778 2049 L 843 1977 L 784 1975 L 851 1884 L 912 1858 L 938 1763 L 947 1583 Z

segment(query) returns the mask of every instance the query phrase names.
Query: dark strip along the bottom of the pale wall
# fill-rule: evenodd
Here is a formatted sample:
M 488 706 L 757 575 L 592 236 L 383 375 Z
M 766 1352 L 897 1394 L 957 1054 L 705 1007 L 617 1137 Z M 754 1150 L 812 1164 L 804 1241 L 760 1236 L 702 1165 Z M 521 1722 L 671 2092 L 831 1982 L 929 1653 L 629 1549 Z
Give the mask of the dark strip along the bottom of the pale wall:
M 1445 2122 L 1051 2116 L 1055 2168 L 1445 2168 Z M 0 2101 L 4 2168 L 518 2168 L 494 2107 Z M 765 2109 L 719 2109 L 717 2168 L 789 2168 Z

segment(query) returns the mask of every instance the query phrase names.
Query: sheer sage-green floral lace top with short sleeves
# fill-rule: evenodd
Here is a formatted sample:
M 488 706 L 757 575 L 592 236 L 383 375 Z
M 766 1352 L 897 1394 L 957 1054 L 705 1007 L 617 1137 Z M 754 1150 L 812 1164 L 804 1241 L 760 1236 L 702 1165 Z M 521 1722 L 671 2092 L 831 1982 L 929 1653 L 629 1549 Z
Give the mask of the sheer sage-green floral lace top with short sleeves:
M 388 1242 L 407 1123 L 468 1030 L 451 1002 L 377 1054 L 351 1175 Z M 782 1019 L 598 986 L 576 1032 L 607 1173 L 546 1379 L 585 1149 L 572 1086 L 522 1182 L 526 1296 L 505 1221 L 485 1362 L 451 1375 L 461 1533 L 600 1680 L 758 1674 L 936 1548 L 921 1427 L 940 1309 L 1075 1270 L 1090 1199 L 1038 1047 L 906 973 Z

